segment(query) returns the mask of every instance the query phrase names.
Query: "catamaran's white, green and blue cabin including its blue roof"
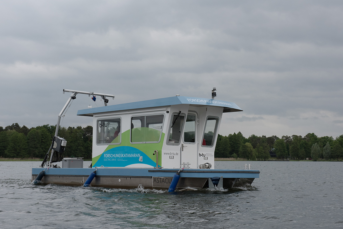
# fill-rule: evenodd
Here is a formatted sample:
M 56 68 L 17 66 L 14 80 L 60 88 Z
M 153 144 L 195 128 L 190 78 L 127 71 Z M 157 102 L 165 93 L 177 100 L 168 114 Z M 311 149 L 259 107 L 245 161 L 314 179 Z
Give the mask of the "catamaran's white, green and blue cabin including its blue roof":
M 225 112 L 235 103 L 184 96 L 79 110 L 93 117 L 92 167 L 214 169 Z

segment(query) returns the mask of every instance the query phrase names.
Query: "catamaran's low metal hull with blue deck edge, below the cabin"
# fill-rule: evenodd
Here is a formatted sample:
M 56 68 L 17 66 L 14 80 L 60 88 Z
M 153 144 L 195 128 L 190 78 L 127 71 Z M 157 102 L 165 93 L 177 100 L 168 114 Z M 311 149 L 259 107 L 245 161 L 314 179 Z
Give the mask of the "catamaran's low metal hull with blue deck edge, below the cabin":
M 32 178 L 35 180 L 44 168 L 33 168 Z M 49 168 L 42 178 L 43 184 L 60 184 L 80 186 L 87 180 L 95 168 Z M 168 189 L 178 169 L 148 168 L 98 168 L 91 186 L 117 189 L 132 189 L 143 186 L 145 189 Z M 259 178 L 258 170 L 213 170 L 184 169 L 176 190 L 197 190 L 209 187 L 209 178 L 223 177 L 223 188 L 251 185 Z

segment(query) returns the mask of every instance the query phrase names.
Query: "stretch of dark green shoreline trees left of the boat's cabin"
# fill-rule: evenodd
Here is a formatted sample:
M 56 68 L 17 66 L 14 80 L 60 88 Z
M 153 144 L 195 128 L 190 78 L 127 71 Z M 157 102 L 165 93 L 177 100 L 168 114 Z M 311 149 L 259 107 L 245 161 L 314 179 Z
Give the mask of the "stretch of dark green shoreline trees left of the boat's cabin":
M 28 129 L 18 123 L 0 126 L 0 157 L 44 158 L 48 152 L 56 125 L 42 125 Z M 58 136 L 67 140 L 64 157 L 92 159 L 93 127 L 60 127 Z

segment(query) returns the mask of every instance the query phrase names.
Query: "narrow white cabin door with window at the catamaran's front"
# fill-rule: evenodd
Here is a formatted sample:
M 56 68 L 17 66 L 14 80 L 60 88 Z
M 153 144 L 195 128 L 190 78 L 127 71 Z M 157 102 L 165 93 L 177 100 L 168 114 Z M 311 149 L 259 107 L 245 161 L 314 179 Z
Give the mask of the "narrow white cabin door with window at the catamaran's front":
M 181 167 L 198 167 L 198 116 L 188 112 L 181 144 Z

